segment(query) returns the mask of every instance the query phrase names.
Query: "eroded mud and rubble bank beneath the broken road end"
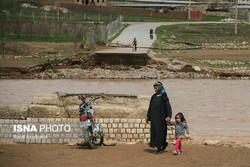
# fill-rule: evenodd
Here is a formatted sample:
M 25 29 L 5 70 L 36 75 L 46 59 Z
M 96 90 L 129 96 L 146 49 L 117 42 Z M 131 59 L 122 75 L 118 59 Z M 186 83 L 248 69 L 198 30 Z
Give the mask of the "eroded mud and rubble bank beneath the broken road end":
M 165 62 L 164 62 L 165 61 Z M 248 71 L 229 71 L 201 68 L 176 63 L 173 60 L 154 59 L 148 55 L 137 54 L 80 54 L 64 60 L 52 60 L 31 67 L 0 67 L 0 78 L 51 79 L 51 78 L 249 78 Z M 173 65 L 170 67 L 170 65 Z M 142 73 L 143 72 L 143 73 Z M 146 74 L 146 73 L 147 74 Z M 151 73 L 151 74 L 149 74 Z M 54 74 L 54 75 L 53 75 Z

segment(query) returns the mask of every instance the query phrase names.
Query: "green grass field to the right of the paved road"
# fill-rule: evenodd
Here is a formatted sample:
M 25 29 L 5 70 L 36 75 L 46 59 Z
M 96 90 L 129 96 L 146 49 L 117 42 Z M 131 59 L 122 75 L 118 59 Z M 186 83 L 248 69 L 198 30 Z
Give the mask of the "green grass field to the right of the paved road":
M 175 41 L 193 44 L 217 44 L 217 43 L 250 43 L 250 25 L 238 24 L 238 34 L 234 33 L 234 24 L 183 24 L 161 26 L 156 29 L 157 40 L 155 48 L 168 48 L 167 40 L 175 36 Z

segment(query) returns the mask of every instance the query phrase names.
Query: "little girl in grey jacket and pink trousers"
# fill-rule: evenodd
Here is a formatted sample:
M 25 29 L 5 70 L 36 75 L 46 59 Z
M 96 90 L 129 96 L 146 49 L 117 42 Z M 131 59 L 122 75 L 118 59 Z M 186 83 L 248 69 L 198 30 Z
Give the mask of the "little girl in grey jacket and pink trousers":
M 181 154 L 182 153 L 182 146 L 181 146 L 181 140 L 185 137 L 185 130 L 187 134 L 189 134 L 189 129 L 187 126 L 187 122 L 184 118 L 184 115 L 179 112 L 175 115 L 175 121 L 170 121 L 171 125 L 175 126 L 175 136 L 176 136 L 176 143 L 174 146 L 174 155 Z M 179 152 L 177 152 L 179 149 Z

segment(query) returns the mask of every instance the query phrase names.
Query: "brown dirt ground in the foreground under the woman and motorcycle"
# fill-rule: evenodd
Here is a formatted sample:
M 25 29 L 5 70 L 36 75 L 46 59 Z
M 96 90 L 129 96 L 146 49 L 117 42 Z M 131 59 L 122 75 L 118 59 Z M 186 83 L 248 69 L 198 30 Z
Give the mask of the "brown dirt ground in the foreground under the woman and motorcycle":
M 0 144 L 1 166 L 174 166 L 248 167 L 250 149 L 183 144 L 182 155 L 173 155 L 173 145 L 154 155 L 147 144 L 101 146 L 89 150 L 55 144 Z

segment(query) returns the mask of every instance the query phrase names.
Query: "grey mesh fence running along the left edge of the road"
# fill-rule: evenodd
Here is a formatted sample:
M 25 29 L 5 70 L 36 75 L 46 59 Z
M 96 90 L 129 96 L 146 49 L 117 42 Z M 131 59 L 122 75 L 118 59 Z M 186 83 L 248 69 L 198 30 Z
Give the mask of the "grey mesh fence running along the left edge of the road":
M 116 32 L 119 31 L 119 29 L 123 25 L 123 16 L 119 16 L 119 18 L 112 23 L 95 30 L 92 30 L 90 32 L 87 32 L 84 36 L 86 39 L 85 44 L 91 45 L 96 43 L 97 41 L 104 41 L 105 39 L 108 39 L 112 35 L 114 35 Z

